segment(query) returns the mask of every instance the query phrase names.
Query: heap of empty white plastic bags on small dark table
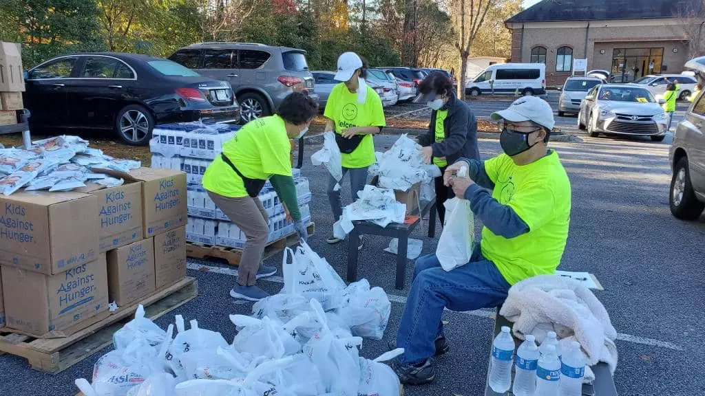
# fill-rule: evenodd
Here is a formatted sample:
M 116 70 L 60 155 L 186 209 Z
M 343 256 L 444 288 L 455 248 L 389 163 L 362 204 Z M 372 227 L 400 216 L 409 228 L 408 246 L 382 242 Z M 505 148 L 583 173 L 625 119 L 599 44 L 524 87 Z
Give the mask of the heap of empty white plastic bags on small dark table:
M 357 192 L 358 199 L 343 208 L 343 215 L 333 224 L 333 235 L 344 239 L 353 230 L 353 221 L 367 220 L 381 227 L 389 223 L 403 223 L 406 204 L 397 202 L 394 191 L 366 185 Z

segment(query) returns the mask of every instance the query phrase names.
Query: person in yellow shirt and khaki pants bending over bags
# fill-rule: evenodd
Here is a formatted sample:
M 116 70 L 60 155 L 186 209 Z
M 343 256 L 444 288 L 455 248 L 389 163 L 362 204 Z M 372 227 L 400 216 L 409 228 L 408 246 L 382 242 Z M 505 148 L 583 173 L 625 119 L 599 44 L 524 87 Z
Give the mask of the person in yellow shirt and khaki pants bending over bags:
M 305 135 L 317 114 L 314 99 L 301 92 L 289 94 L 273 116 L 243 125 L 235 137 L 223 144 L 222 154 L 216 156 L 203 175 L 202 184 L 209 197 L 247 239 L 238 266 L 238 282 L 230 291 L 233 298 L 259 301 L 268 297 L 256 282 L 276 273 L 276 267 L 262 264 L 269 237 L 269 214 L 258 195 L 266 180 L 283 202 L 300 239 L 307 240 L 292 178 L 289 139 Z

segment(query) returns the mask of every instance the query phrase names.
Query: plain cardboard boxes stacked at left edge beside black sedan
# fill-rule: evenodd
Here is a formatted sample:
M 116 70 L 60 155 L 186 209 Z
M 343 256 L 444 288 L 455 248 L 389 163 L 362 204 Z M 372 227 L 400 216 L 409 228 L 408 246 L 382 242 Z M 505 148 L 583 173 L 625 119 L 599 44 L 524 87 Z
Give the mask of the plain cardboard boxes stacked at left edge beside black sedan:
M 20 44 L 0 42 L 0 126 L 15 125 L 25 91 Z

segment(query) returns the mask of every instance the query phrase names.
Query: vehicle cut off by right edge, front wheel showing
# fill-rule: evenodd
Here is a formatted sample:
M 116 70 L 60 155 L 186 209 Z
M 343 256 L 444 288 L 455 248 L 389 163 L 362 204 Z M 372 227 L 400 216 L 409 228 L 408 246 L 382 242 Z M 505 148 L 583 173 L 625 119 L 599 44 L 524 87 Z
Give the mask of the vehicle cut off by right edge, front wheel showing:
M 705 56 L 685 63 L 705 76 Z M 694 220 L 705 209 L 705 94 L 700 93 L 678 124 L 670 146 L 670 212 L 676 218 Z

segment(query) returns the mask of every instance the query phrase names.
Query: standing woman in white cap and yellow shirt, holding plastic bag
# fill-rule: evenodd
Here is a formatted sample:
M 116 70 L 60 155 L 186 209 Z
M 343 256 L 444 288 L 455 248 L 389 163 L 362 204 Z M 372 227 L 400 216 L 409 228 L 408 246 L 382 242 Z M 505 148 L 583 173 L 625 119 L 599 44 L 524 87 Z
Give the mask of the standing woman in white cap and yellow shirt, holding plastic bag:
M 345 52 L 338 57 L 335 79 L 342 82 L 331 90 L 324 112 L 327 118 L 325 132 L 336 132 L 336 143 L 343 157 L 343 175 L 350 173 L 353 200 L 367 184 L 367 168 L 376 161 L 372 135 L 386 125 L 382 101 L 374 89 L 364 82 L 366 77 L 367 66 L 355 52 Z M 336 189 L 336 184 L 337 181 L 331 176 L 328 199 L 333 210 L 333 221 L 338 221 L 343 214 L 341 192 Z M 327 242 L 333 244 L 341 240 L 331 236 Z

